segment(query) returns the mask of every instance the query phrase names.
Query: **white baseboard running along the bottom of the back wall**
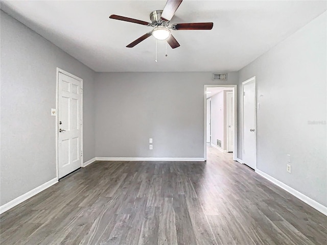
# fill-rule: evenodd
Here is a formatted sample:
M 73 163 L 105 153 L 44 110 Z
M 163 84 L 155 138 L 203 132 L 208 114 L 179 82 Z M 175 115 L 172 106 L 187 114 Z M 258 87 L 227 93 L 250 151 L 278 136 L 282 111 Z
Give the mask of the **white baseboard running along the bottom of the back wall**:
M 96 161 L 188 161 L 203 162 L 203 157 L 96 157 Z

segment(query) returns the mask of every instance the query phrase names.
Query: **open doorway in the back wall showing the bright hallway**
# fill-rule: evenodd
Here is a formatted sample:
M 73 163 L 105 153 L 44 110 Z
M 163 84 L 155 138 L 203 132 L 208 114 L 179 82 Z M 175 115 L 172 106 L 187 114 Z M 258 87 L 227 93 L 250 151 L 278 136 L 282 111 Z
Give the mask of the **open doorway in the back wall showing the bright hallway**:
M 237 85 L 204 85 L 204 158 L 207 146 L 237 160 Z

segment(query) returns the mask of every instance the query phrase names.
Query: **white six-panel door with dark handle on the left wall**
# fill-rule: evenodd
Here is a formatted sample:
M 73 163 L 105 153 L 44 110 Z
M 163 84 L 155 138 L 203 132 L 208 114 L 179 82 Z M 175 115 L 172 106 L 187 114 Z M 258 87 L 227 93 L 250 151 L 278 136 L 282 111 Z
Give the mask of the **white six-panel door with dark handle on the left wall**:
M 58 177 L 82 166 L 82 81 L 59 72 Z

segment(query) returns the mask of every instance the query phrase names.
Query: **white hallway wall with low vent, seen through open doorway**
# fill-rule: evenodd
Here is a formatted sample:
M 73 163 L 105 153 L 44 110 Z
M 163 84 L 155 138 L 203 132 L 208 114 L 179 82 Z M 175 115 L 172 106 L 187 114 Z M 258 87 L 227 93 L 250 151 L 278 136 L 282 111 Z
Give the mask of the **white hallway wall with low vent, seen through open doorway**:
M 224 149 L 224 91 L 211 97 L 211 132 L 211 142 L 217 145 L 217 139 L 221 140 Z

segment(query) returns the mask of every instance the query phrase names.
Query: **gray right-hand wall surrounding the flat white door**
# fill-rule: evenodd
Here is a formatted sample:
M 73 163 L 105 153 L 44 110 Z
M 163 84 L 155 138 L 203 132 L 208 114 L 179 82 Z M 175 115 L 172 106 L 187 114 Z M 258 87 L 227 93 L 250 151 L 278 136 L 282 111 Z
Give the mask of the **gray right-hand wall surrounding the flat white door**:
M 257 167 L 324 206 L 326 22 L 325 12 L 239 71 L 240 85 L 256 76 L 256 100 L 260 103 L 256 110 Z M 238 118 L 238 155 L 242 158 L 241 113 Z M 286 171 L 287 154 L 291 155 L 292 174 Z

